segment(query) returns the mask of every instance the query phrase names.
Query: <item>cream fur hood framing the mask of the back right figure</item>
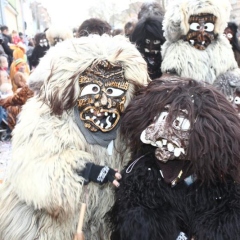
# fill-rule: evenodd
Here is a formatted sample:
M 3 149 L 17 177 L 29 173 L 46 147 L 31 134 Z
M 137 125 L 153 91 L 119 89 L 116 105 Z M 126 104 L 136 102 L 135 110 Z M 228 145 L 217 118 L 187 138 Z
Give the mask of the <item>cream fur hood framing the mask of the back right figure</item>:
M 231 4 L 228 0 L 179 0 L 168 5 L 164 15 L 165 37 L 178 41 L 189 30 L 189 17 L 199 13 L 211 13 L 217 17 L 214 33 L 222 34 L 230 18 Z

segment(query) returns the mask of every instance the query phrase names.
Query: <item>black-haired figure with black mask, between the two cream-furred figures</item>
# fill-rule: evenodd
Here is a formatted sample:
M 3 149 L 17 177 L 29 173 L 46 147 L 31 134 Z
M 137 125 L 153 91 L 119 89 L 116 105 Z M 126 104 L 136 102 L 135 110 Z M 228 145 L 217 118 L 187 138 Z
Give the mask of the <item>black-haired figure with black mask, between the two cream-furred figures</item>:
M 165 42 L 162 19 L 156 16 L 142 18 L 135 26 L 131 37 L 148 65 L 151 79 L 159 78 L 161 73 L 161 46 Z

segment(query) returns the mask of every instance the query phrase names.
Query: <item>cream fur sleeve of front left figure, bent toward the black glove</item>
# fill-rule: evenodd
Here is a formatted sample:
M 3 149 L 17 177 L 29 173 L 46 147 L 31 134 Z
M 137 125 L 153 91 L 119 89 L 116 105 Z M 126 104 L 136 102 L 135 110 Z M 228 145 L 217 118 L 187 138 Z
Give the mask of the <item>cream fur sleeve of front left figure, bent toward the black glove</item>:
M 54 217 L 65 210 L 75 212 L 84 182 L 77 171 L 94 158 L 84 150 L 79 129 L 69 116 L 38 117 L 47 106 L 33 100 L 28 108 L 23 106 L 14 129 L 6 184 L 14 183 L 13 192 L 34 209 L 43 209 Z

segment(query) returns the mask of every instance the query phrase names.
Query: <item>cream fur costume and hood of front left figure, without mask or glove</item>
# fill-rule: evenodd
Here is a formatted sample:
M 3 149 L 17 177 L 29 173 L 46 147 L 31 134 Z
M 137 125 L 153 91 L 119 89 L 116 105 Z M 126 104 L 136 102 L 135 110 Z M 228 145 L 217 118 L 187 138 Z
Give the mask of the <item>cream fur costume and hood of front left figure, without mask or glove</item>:
M 0 188 L 1 240 L 72 240 L 80 202 L 87 203 L 86 240 L 108 239 L 103 216 L 113 203 L 112 184 L 83 186 L 76 170 L 87 162 L 121 169 L 121 154 L 127 159 L 127 151 L 118 134 L 111 156 L 106 148 L 88 144 L 73 107 L 68 107 L 80 94 L 81 73 L 94 60 L 105 59 L 123 65 L 129 80 L 126 106 L 134 85 L 147 84 L 149 77 L 140 53 L 123 37 L 67 40 L 51 48 L 38 65 L 43 85 L 39 96 L 23 106 L 13 133 L 11 165 Z M 63 114 L 52 114 L 52 104 L 62 105 Z

